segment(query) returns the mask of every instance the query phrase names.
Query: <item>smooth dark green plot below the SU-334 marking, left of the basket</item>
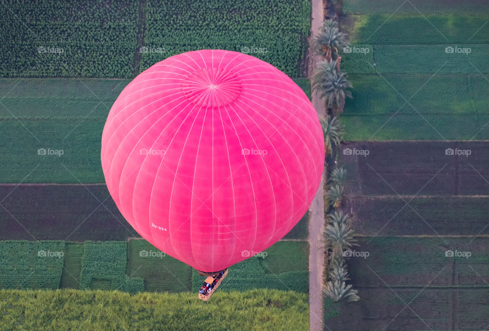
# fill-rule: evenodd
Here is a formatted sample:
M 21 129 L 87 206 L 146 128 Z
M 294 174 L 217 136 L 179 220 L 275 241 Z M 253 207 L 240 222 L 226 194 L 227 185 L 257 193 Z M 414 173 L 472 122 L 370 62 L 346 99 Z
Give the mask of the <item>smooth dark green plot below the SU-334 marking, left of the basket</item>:
M 127 249 L 126 274 L 142 278 L 145 291 L 191 290 L 192 268 L 187 264 L 165 255 L 146 240 L 129 240 Z

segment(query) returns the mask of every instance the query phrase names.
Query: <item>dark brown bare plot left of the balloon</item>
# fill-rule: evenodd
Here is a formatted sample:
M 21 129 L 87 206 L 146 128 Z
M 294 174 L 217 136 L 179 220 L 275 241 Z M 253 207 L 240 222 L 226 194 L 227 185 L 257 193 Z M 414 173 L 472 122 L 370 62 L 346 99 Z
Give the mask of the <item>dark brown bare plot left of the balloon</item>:
M 118 211 L 105 184 L 0 185 L 0 197 L 5 198 L 2 205 L 6 208 L 0 211 L 0 240 L 126 240 L 139 236 Z

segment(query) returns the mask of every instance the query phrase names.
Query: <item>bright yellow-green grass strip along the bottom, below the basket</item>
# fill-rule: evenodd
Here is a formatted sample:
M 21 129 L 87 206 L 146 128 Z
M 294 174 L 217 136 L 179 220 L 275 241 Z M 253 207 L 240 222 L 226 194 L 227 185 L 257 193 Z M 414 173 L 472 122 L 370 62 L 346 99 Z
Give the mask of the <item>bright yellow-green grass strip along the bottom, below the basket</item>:
M 77 330 L 308 330 L 307 294 L 219 291 L 195 293 L 0 290 L 0 328 Z

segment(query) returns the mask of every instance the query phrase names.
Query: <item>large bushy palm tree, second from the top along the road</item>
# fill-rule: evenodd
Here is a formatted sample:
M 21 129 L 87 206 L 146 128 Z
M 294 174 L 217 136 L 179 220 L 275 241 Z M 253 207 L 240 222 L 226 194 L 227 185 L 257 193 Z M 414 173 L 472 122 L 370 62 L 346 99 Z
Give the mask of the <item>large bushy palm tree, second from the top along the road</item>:
M 330 72 L 326 71 L 323 66 L 318 66 L 312 86 L 316 93 L 324 99 L 326 105 L 335 109 L 335 115 L 343 111 L 346 97 L 352 98 L 351 91 L 348 89 L 353 86 L 346 73 L 342 71 Z

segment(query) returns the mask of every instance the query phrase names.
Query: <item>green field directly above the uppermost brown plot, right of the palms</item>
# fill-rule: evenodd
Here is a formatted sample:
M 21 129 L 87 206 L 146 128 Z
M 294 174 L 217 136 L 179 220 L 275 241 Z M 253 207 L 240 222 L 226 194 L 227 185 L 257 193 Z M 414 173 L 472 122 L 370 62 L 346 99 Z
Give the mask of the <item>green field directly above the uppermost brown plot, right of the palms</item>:
M 350 80 L 345 140 L 489 139 L 489 81 L 481 75 L 362 74 Z

